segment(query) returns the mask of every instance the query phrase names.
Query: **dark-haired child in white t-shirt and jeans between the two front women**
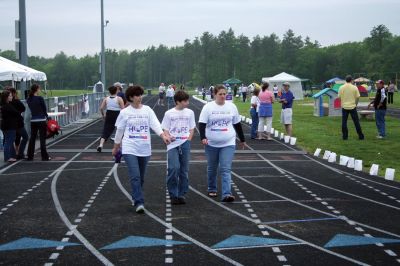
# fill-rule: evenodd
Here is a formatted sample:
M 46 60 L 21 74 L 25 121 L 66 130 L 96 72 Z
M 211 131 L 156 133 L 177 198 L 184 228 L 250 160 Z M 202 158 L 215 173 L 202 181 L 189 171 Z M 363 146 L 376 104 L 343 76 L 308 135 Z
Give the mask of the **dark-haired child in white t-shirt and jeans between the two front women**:
M 190 143 L 196 122 L 194 112 L 187 108 L 189 94 L 180 90 L 174 95 L 174 101 L 175 108 L 165 113 L 161 123 L 164 133 L 172 141 L 167 146 L 167 187 L 172 204 L 185 204 L 185 194 L 189 189 Z

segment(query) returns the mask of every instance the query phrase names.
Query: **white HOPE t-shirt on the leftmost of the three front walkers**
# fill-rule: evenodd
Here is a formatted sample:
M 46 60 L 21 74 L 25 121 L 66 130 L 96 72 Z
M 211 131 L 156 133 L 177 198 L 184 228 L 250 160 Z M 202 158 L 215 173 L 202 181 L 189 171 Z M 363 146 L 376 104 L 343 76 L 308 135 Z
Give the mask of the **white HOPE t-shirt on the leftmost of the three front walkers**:
M 151 155 L 152 129 L 157 135 L 163 133 L 161 124 L 153 109 L 142 105 L 140 109 L 131 105 L 122 109 L 115 123 L 117 129 L 124 129 L 122 154 L 146 157 Z

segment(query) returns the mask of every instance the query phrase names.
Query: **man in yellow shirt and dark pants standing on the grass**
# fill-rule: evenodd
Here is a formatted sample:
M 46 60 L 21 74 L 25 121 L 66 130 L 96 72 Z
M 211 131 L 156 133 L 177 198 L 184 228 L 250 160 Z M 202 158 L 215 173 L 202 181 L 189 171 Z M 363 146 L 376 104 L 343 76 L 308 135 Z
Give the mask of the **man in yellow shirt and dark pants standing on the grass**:
M 362 133 L 357 113 L 357 104 L 360 98 L 360 92 L 358 91 L 358 88 L 351 83 L 352 80 L 353 78 L 350 75 L 346 76 L 346 84 L 339 89 L 339 98 L 342 102 L 342 137 L 343 140 L 347 140 L 349 136 L 347 118 L 350 114 L 354 126 L 356 127 L 358 138 L 363 140 L 364 134 Z

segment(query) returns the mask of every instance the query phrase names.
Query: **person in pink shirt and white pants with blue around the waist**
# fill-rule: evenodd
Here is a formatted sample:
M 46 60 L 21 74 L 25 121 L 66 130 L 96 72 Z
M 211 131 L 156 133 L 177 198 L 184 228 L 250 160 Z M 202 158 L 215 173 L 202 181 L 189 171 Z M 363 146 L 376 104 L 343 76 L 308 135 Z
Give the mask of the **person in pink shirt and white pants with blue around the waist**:
M 260 104 L 258 107 L 258 138 L 263 139 L 262 133 L 265 132 L 264 126 L 267 126 L 267 140 L 272 140 L 271 138 L 271 128 L 272 128 L 272 104 L 274 103 L 274 95 L 268 90 L 269 84 L 266 82 L 261 87 L 261 92 L 258 95 Z

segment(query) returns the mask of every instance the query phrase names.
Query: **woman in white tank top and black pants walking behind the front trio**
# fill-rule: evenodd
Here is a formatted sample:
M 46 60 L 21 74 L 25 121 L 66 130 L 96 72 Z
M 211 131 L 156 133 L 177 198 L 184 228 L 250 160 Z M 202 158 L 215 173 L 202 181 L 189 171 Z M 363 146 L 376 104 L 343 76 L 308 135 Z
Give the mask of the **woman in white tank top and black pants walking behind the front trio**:
M 100 105 L 100 112 L 104 120 L 104 126 L 100 138 L 100 144 L 97 147 L 98 152 L 101 152 L 104 142 L 106 142 L 114 132 L 115 121 L 117 121 L 119 112 L 124 108 L 124 100 L 117 96 L 118 88 L 111 86 L 108 88 L 108 91 L 110 92 L 110 96 L 105 97 Z M 107 110 L 105 115 L 104 110 Z

